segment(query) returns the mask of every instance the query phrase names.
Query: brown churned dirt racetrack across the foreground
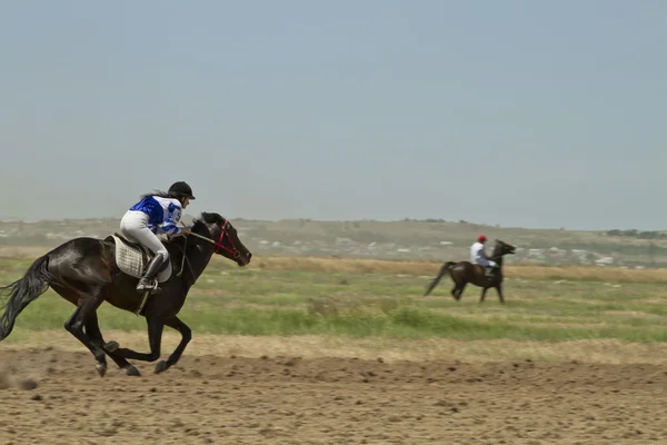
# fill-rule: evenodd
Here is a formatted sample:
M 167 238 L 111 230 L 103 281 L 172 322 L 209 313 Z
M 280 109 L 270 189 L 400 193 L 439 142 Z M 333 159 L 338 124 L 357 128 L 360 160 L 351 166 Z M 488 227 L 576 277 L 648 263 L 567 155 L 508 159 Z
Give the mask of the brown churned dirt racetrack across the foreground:
M 667 368 L 0 348 L 0 444 L 667 444 Z

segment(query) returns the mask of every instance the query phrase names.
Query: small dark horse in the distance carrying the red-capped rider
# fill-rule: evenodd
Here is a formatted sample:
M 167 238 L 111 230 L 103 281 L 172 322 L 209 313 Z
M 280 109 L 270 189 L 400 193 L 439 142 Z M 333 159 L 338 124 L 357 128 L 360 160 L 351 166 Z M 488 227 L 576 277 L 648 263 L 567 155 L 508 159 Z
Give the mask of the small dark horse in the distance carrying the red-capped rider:
M 457 301 L 461 299 L 461 294 L 464 293 L 466 285 L 471 283 L 475 286 L 481 287 L 481 297 L 479 303 L 484 301 L 486 291 L 490 288 L 496 288 L 498 291 L 498 298 L 500 298 L 500 303 L 505 303 L 505 298 L 502 297 L 502 257 L 508 254 L 514 254 L 515 250 L 515 246 L 496 239 L 496 247 L 494 248 L 494 253 L 491 254 L 490 258 L 496 261 L 498 267 L 494 270 L 491 277 L 486 276 L 484 267 L 474 265 L 470 261 L 447 261 L 442 265 L 440 273 L 436 278 L 434 278 L 428 289 L 426 289 L 426 294 L 424 294 L 424 296 L 429 295 L 430 291 L 438 285 L 440 279 L 447 273 L 449 273 L 449 276 L 454 281 L 451 296 Z

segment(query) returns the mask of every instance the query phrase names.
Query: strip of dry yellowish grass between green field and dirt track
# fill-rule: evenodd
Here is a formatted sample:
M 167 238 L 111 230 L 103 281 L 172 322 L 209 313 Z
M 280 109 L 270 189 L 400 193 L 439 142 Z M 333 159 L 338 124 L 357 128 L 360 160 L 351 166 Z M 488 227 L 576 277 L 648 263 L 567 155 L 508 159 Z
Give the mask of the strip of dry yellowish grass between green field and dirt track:
M 148 334 L 140 332 L 104 330 L 104 338 L 120 342 L 123 347 L 148 352 Z M 162 355 L 178 345 L 180 334 L 167 329 L 162 335 Z M 16 329 L 2 342 L 0 349 L 14 347 L 56 346 L 62 350 L 88 350 L 64 329 L 27 332 Z M 458 359 L 484 363 L 524 360 L 570 362 L 596 364 L 654 364 L 667 367 L 667 344 L 637 344 L 617 339 L 571 342 L 451 340 L 427 338 L 397 340 L 382 338 L 346 338 L 326 336 L 243 336 L 193 333 L 186 355 L 218 355 L 260 357 L 265 354 L 295 355 L 303 358 L 357 357 L 392 360 Z M 143 364 L 138 363 L 142 367 Z

